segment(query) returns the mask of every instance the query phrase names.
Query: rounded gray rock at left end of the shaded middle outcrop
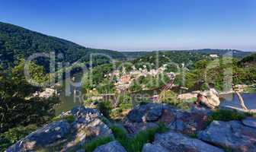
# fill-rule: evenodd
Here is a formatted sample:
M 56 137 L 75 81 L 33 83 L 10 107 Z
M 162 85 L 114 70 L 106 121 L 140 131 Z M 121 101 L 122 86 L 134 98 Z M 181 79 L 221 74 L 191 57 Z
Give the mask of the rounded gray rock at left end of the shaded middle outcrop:
M 136 106 L 127 117 L 131 122 L 155 122 L 162 116 L 162 109 L 162 104 L 148 103 Z

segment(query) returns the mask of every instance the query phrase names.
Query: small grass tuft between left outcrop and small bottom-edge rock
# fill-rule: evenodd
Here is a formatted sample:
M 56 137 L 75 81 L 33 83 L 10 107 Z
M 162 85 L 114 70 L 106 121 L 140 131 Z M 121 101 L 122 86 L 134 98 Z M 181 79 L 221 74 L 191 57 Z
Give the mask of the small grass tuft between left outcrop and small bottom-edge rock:
M 96 147 L 99 147 L 103 144 L 107 144 L 110 141 L 113 141 L 113 138 L 107 137 L 107 138 L 98 138 L 93 141 L 88 142 L 85 144 L 83 149 L 85 149 L 86 152 L 92 152 L 96 149 Z

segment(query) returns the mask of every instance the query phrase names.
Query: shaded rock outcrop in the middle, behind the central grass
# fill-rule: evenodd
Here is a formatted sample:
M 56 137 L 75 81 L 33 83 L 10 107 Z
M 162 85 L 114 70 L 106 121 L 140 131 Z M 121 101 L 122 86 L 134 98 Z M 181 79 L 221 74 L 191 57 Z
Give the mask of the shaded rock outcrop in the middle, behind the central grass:
M 164 122 L 168 128 L 184 134 L 194 135 L 206 128 L 206 119 L 210 111 L 193 108 L 190 112 L 160 103 L 149 103 L 131 110 L 124 124 L 127 131 L 137 133 L 146 128 L 156 127 Z

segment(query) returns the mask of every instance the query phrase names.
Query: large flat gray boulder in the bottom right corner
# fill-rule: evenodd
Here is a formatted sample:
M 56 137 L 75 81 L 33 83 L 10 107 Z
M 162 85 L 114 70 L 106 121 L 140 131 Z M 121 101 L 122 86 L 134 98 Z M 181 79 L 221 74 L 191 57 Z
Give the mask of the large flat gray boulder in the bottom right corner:
M 206 130 L 200 131 L 198 138 L 232 151 L 256 150 L 256 129 L 247 127 L 239 121 L 213 121 Z

